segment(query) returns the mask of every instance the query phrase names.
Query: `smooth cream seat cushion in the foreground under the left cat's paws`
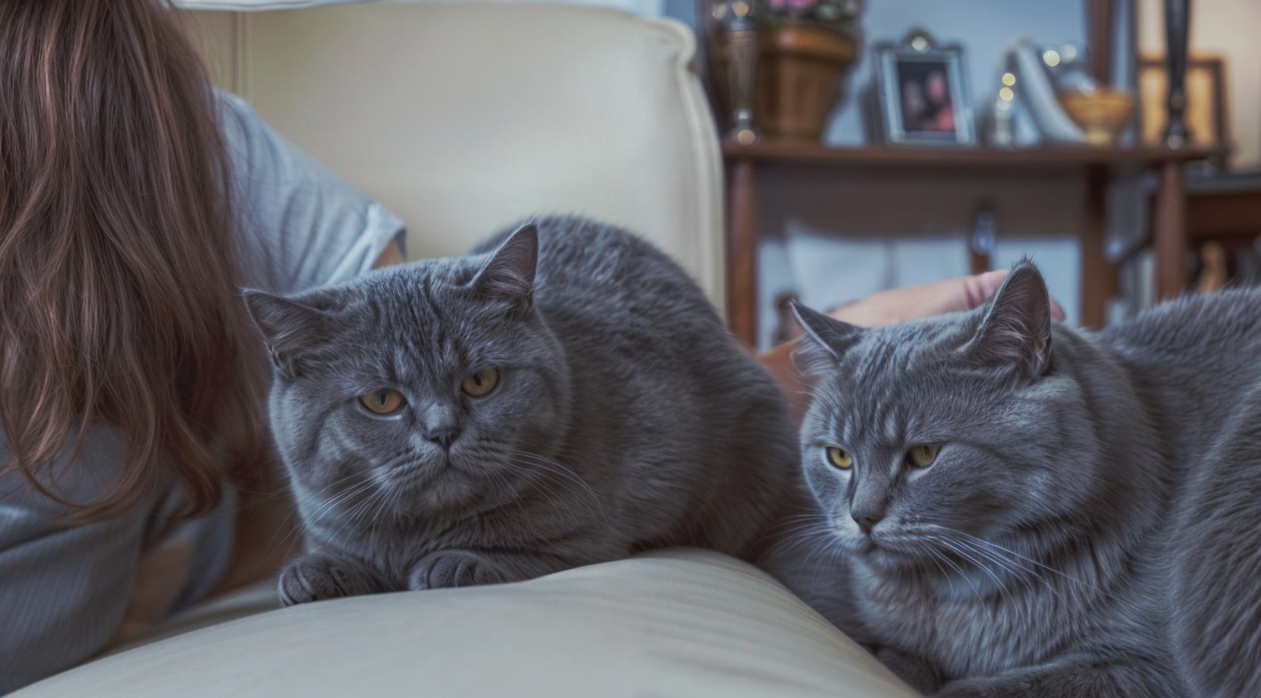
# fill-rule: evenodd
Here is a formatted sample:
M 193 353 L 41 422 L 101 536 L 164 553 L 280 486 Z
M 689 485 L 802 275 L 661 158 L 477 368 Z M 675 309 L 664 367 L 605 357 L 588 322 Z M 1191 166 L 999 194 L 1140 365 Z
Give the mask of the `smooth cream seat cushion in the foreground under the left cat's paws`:
M 271 591 L 245 596 L 247 611 L 275 607 Z M 224 614 L 221 601 L 209 615 Z M 106 656 L 14 695 L 915 693 L 759 569 L 670 549 L 513 585 L 271 610 Z

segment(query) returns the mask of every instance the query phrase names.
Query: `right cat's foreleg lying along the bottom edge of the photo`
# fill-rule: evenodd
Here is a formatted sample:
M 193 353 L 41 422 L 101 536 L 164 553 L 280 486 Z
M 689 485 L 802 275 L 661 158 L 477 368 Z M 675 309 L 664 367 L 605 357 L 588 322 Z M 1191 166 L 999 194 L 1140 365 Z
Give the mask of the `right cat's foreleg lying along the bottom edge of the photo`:
M 1173 668 L 1155 661 L 1063 661 L 947 683 L 933 698 L 1180 698 Z

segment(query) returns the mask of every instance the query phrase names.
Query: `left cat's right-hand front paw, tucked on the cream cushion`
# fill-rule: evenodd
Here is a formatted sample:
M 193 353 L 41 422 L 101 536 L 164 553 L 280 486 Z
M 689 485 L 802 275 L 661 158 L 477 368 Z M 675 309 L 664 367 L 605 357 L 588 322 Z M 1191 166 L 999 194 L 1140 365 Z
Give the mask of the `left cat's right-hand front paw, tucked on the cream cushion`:
M 448 588 L 520 582 L 579 564 L 583 563 L 545 553 L 438 551 L 420 558 L 412 566 L 411 572 L 407 573 L 407 588 Z

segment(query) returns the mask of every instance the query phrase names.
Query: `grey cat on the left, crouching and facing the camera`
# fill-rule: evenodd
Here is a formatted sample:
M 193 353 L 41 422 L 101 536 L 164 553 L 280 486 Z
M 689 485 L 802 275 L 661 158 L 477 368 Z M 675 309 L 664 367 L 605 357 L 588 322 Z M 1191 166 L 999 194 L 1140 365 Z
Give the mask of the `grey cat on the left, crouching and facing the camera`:
M 308 541 L 285 605 L 704 546 L 752 557 L 799 479 L 783 399 L 700 289 L 618 228 L 248 291 Z

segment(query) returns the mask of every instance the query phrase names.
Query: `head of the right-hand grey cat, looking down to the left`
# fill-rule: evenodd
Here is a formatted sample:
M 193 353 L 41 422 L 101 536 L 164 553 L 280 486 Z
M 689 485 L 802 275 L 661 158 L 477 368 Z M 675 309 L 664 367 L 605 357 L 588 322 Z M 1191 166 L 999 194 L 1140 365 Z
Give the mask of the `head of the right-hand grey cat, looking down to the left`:
M 1087 498 L 1097 443 L 1031 263 L 968 312 L 860 329 L 796 311 L 798 364 L 820 378 L 805 470 L 854 554 L 936 569 L 968 537 L 1010 541 Z

